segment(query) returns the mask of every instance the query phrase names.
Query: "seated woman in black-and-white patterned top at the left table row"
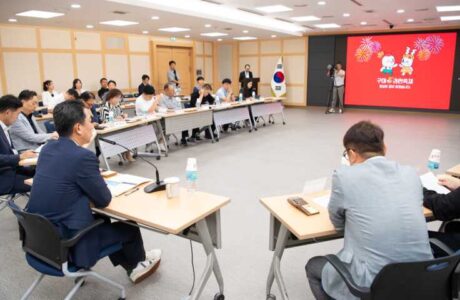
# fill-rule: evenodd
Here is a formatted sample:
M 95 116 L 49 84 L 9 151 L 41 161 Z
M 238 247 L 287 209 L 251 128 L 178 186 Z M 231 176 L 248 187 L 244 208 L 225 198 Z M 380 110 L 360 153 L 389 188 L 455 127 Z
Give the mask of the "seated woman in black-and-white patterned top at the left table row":
M 122 121 L 128 117 L 127 114 L 123 113 L 120 106 L 122 98 L 123 93 L 119 89 L 111 89 L 107 92 L 105 104 L 101 107 L 101 120 L 103 123 L 109 123 L 115 120 Z M 129 151 L 124 152 L 122 157 L 127 161 L 136 161 Z

